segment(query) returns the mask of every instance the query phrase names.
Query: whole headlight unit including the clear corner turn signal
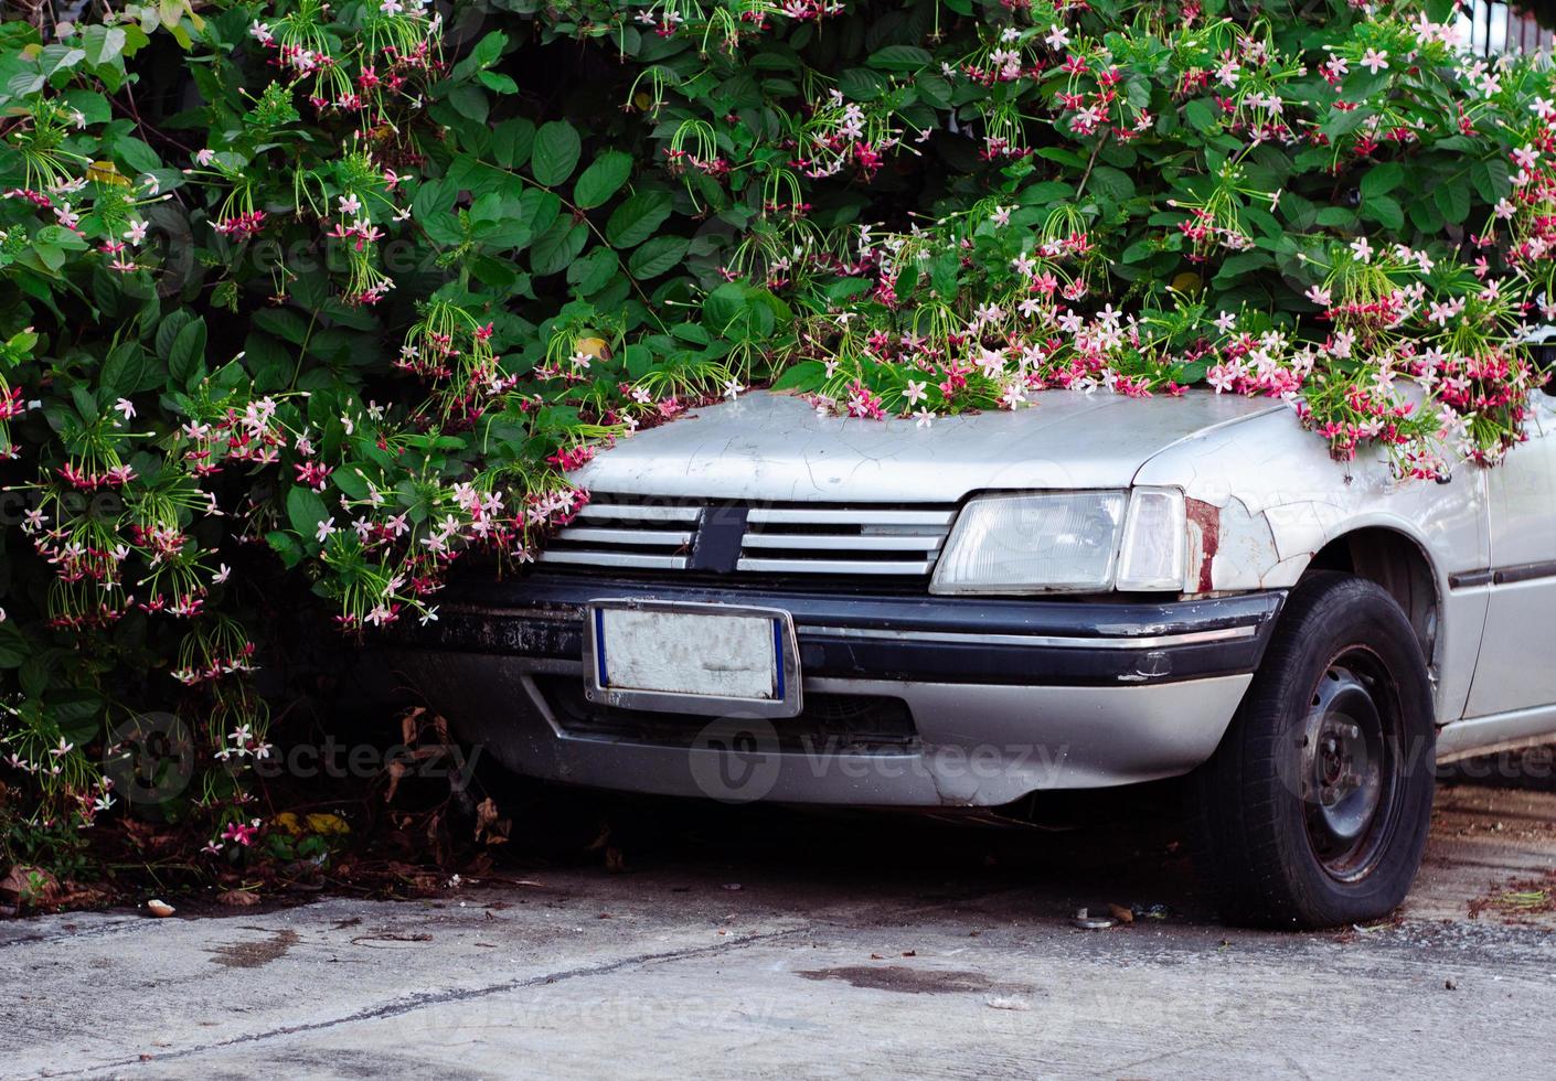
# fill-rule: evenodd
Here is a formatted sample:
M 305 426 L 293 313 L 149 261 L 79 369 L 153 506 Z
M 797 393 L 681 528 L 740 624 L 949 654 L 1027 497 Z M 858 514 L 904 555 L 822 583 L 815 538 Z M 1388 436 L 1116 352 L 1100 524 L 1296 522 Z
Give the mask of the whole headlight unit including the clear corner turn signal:
M 968 501 L 930 593 L 1181 589 L 1183 493 L 1046 492 Z

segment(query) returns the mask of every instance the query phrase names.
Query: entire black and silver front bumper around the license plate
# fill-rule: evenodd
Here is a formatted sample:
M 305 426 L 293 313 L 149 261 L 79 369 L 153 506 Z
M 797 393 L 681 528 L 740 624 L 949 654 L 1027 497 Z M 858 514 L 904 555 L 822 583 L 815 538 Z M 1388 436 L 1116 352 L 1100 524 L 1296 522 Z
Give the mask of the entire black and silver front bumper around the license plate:
M 804 712 L 710 720 L 585 701 L 584 611 L 607 597 L 792 613 Z M 535 574 L 453 589 L 395 659 L 465 739 L 531 776 L 730 801 L 991 807 L 1200 765 L 1284 597 L 850 596 Z

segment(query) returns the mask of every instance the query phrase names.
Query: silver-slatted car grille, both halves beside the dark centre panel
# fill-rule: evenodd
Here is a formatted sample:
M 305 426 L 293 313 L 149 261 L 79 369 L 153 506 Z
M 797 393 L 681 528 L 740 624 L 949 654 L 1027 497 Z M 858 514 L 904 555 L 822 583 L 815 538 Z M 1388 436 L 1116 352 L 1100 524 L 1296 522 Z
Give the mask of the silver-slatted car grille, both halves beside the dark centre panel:
M 593 493 L 543 563 L 699 571 L 697 532 L 731 504 L 644 501 Z M 745 574 L 927 577 L 955 518 L 949 504 L 762 504 L 734 507 L 744 534 L 733 569 Z M 728 568 L 724 568 L 728 569 Z

